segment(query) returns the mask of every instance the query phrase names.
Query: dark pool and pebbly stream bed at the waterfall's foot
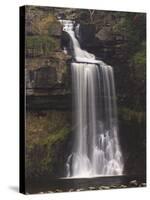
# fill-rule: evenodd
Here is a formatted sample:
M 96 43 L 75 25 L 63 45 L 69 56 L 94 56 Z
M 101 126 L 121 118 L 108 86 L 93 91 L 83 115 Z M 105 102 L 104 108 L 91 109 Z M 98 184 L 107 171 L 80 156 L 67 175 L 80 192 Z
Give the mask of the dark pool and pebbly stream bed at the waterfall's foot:
M 32 185 L 32 188 L 30 187 Z M 27 185 L 28 193 L 79 192 L 87 190 L 108 190 L 146 187 L 145 176 L 106 176 L 93 178 L 35 179 Z

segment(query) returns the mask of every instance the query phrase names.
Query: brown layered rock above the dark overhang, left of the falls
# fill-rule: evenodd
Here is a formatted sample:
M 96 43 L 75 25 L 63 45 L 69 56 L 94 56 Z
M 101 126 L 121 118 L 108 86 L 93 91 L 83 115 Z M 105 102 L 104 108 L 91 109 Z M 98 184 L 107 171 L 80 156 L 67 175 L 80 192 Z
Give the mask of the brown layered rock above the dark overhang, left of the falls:
M 37 86 L 45 89 L 54 88 L 56 85 L 59 88 L 61 85 L 61 89 L 57 91 L 62 94 L 70 85 L 67 65 L 70 56 L 61 49 L 62 25 L 56 19 L 54 10 L 54 8 L 26 6 L 25 67 L 27 74 L 32 74 L 27 80 L 27 85 L 32 89 L 33 95 Z M 44 69 L 51 70 L 49 75 Z M 45 90 L 37 92 L 45 94 Z M 30 91 L 29 93 L 27 91 L 27 94 L 31 94 Z

